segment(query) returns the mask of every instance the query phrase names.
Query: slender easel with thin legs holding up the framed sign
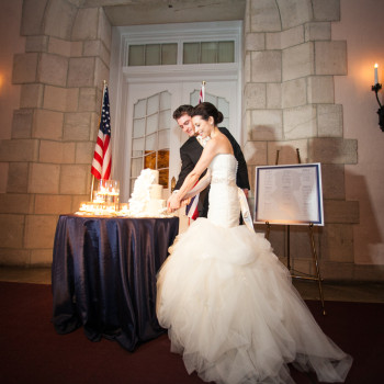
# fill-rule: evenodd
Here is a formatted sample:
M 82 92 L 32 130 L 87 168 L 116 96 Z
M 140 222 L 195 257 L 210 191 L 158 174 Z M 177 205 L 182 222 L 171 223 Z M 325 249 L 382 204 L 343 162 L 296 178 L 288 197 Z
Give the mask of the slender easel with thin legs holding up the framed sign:
M 276 151 L 276 158 L 275 158 L 275 165 L 278 166 L 279 163 L 279 151 Z M 300 157 L 300 150 L 298 148 L 296 148 L 296 155 L 297 155 L 297 162 L 302 163 L 301 157 Z M 269 240 L 269 235 L 271 231 L 271 224 L 269 222 L 266 222 L 266 235 L 264 237 L 267 238 L 267 240 Z M 290 229 L 290 225 L 286 225 L 286 268 L 291 273 L 291 276 L 293 279 L 302 279 L 302 280 L 314 280 L 317 281 L 318 284 L 318 292 L 319 292 L 319 296 L 320 296 L 320 302 L 321 302 L 321 307 L 323 307 L 323 315 L 326 315 L 326 310 L 325 310 L 325 306 L 324 306 L 324 295 L 323 295 L 323 285 L 321 285 L 321 275 L 320 275 L 320 269 L 318 266 L 318 258 L 317 258 L 317 252 L 316 252 L 316 247 L 315 247 L 315 238 L 314 238 L 314 225 L 312 223 L 308 224 L 308 235 L 309 235 L 309 242 L 310 242 L 310 250 L 312 250 L 312 259 L 315 266 L 315 270 L 316 270 L 316 275 L 309 275 L 306 274 L 304 272 L 298 272 L 295 271 L 292 267 L 291 267 L 291 229 Z M 296 274 L 296 273 L 301 273 L 301 274 Z

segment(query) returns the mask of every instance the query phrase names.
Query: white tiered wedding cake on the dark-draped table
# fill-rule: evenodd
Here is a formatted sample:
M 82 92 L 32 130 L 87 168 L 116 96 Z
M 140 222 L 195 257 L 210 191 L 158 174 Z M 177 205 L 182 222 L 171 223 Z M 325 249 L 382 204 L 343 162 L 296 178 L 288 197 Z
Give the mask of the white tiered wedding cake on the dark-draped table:
M 166 201 L 162 199 L 158 170 L 149 168 L 142 170 L 128 202 L 132 216 L 158 217 L 165 214 Z

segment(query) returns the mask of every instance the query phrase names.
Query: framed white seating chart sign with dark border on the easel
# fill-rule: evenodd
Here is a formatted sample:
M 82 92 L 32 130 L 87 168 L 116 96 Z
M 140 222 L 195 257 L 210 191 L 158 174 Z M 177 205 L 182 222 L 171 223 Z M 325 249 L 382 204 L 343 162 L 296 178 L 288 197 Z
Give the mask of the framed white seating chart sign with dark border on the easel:
M 255 223 L 324 225 L 320 163 L 256 167 Z

